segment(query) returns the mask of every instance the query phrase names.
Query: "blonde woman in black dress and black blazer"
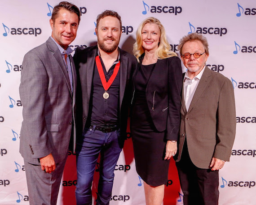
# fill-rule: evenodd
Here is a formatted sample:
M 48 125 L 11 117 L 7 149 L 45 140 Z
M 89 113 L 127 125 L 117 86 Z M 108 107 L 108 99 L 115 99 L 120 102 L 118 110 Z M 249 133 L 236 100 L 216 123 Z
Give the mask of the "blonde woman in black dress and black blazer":
M 137 30 L 133 53 L 131 134 L 137 173 L 147 205 L 161 205 L 169 159 L 177 153 L 180 128 L 181 61 L 170 51 L 161 22 L 149 17 Z

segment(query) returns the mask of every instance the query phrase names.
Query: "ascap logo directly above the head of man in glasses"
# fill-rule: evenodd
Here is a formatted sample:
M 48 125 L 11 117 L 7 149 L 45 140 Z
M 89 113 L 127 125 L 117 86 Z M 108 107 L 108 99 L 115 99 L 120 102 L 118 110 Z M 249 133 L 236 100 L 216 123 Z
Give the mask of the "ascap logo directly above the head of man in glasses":
M 190 22 L 190 32 L 188 34 L 196 32 L 197 34 L 215 34 L 215 35 L 225 35 L 227 34 L 228 30 L 226 28 L 207 28 L 207 27 L 197 27 L 195 28 Z

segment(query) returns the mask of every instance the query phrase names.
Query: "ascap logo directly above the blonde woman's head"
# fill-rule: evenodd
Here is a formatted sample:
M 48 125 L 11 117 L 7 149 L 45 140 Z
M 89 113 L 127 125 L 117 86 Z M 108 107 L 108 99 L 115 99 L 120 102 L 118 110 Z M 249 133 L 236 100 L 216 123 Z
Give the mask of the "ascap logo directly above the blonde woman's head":
M 142 11 L 143 15 L 146 15 L 149 11 L 151 13 L 174 13 L 177 15 L 182 12 L 182 8 L 180 6 L 150 6 L 142 1 L 144 6 L 144 11 Z

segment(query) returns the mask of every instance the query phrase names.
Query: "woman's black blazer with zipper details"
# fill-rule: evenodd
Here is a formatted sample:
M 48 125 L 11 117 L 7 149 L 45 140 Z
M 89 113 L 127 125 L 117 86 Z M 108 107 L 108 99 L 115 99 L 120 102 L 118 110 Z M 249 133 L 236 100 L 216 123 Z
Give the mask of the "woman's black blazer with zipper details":
M 142 62 L 144 54 L 140 58 Z M 132 76 L 133 96 L 134 78 L 140 64 Z M 167 140 L 177 140 L 180 129 L 182 71 L 181 60 L 170 57 L 157 60 L 154 70 L 146 86 L 146 100 L 155 128 L 159 132 L 166 131 Z M 134 99 L 132 98 L 132 102 Z

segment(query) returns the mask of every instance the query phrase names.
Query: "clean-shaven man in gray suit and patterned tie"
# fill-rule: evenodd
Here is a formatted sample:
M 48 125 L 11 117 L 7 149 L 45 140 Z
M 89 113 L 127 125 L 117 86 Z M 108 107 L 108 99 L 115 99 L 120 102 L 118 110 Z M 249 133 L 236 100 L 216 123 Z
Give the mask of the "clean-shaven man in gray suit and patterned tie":
M 55 205 L 68 148 L 75 149 L 76 73 L 71 47 L 79 9 L 61 2 L 50 19 L 51 37 L 29 51 L 22 63 L 20 97 L 24 158 L 31 205 Z

